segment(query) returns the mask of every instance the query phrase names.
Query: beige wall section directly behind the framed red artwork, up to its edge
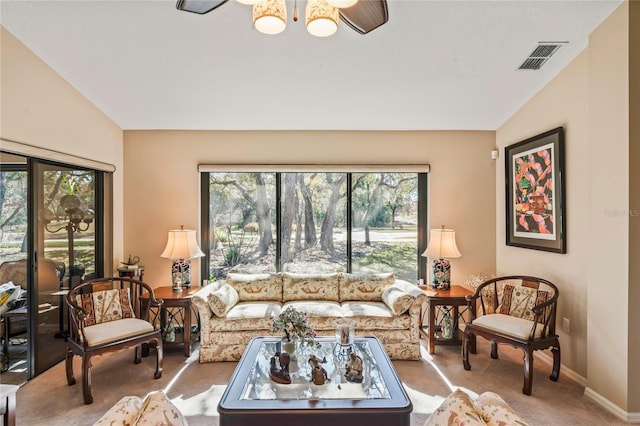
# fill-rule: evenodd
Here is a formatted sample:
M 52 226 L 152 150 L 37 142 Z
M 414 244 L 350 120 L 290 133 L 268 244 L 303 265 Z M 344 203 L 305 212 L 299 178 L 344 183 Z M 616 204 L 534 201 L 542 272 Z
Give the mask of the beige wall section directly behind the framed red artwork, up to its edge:
M 499 275 L 531 274 L 546 278 L 560 289 L 558 318 L 569 318 L 571 334 L 558 327 L 562 363 L 586 376 L 587 348 L 587 259 L 589 221 L 584 214 L 589 189 L 585 182 L 588 161 L 587 84 L 588 56 L 580 54 L 542 91 L 496 132 L 496 143 L 504 147 L 562 126 L 565 129 L 565 185 L 567 253 L 557 254 L 511 247 L 505 244 L 504 158 L 498 164 L 497 270 Z M 561 323 L 561 321 L 560 321 Z

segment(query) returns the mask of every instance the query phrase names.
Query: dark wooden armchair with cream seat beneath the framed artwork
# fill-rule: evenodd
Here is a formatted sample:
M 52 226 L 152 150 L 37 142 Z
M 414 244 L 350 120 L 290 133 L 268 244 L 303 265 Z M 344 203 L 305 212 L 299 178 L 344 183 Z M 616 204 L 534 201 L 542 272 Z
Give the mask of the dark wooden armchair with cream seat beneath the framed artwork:
M 462 342 L 464 369 L 471 369 L 469 352 L 476 353 L 475 339 L 481 336 L 491 341 L 491 358 L 498 358 L 500 343 L 524 351 L 522 393 L 525 395 L 531 395 L 533 385 L 533 351 L 551 348 L 550 379 L 557 381 L 560 375 L 560 341 L 556 334 L 558 296 L 558 288 L 542 278 L 517 275 L 482 283 L 475 294 L 466 297 L 472 317 Z

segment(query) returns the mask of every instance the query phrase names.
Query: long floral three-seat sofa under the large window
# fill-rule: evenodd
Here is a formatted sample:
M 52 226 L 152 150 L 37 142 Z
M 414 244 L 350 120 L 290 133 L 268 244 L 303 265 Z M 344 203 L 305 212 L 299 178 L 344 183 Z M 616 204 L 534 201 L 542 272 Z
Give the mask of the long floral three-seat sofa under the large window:
M 200 289 L 200 362 L 237 361 L 249 340 L 273 335 L 272 318 L 288 306 L 307 314 L 318 336 L 335 321 L 355 322 L 356 336 L 375 336 L 391 359 L 420 359 L 419 321 L 426 296 L 394 274 L 228 274 Z

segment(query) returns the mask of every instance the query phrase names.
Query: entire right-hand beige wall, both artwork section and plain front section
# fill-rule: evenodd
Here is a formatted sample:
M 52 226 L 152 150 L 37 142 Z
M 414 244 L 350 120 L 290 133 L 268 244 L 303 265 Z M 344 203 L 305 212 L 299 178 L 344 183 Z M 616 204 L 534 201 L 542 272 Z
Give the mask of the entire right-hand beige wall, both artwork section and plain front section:
M 503 148 L 565 128 L 567 253 L 504 244 L 500 164 L 497 269 L 499 274 L 531 273 L 558 284 L 559 322 L 571 320 L 569 334 L 559 327 L 563 365 L 586 380 L 587 394 L 622 416 L 638 409 L 638 395 L 629 386 L 637 387 L 638 380 L 637 366 L 629 359 L 638 351 L 631 346 L 629 307 L 638 300 L 628 299 L 633 294 L 630 278 L 640 275 L 630 263 L 638 249 L 629 245 L 630 220 L 640 218 L 628 214 L 630 201 L 637 199 L 629 191 L 637 173 L 630 175 L 629 169 L 638 157 L 629 155 L 628 8 L 624 3 L 609 16 L 591 34 L 589 47 L 496 132 Z

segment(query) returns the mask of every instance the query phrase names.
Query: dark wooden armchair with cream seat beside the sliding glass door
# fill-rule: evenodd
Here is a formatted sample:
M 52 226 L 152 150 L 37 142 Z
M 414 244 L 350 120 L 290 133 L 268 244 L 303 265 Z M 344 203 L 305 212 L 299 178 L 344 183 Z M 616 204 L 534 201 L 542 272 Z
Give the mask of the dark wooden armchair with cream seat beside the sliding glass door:
M 140 300 L 140 296 L 145 298 Z M 162 376 L 162 337 L 155 321 L 149 321 L 149 306 L 160 306 L 148 284 L 131 278 L 97 278 L 80 284 L 67 294 L 71 335 L 67 340 L 66 371 L 75 384 L 73 357 L 82 357 L 82 394 L 91 404 L 91 358 L 107 352 L 135 347 L 134 363 L 142 360 L 142 344 L 156 348 L 154 378 Z M 142 306 L 141 306 L 142 305 Z M 157 310 L 159 311 L 159 310 Z

